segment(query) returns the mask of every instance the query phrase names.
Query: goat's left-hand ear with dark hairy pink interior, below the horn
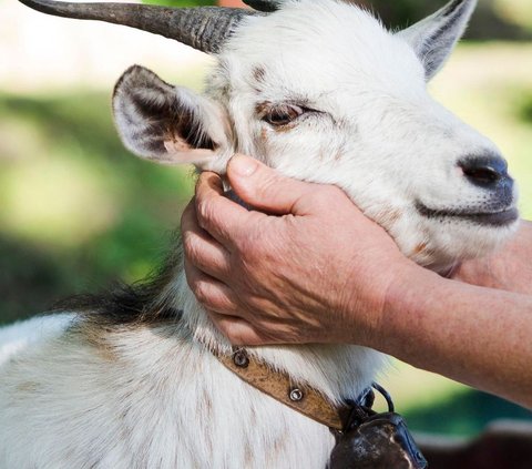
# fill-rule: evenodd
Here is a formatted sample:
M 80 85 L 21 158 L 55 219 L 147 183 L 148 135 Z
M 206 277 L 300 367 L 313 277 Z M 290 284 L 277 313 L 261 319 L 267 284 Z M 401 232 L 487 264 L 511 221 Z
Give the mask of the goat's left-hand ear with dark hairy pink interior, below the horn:
M 215 104 L 143 67 L 127 69 L 116 83 L 113 113 L 124 145 L 161 164 L 202 166 L 227 143 Z

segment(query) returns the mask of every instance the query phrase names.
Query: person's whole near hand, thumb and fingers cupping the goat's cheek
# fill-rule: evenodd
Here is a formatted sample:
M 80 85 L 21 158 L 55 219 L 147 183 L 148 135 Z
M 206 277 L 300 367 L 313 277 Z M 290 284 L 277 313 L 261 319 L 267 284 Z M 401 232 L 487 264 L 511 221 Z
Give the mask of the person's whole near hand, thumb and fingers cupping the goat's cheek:
M 375 346 L 388 287 L 411 263 L 337 187 L 235 156 L 227 175 L 247 211 L 201 175 L 183 214 L 188 284 L 234 344 Z

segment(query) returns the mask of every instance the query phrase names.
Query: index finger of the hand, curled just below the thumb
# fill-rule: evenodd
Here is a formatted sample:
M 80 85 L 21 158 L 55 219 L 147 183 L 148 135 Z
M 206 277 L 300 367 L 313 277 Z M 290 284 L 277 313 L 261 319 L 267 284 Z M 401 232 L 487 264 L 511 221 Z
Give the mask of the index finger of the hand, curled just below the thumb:
M 200 226 L 229 248 L 249 212 L 225 197 L 221 177 L 208 172 L 202 173 L 197 181 L 195 203 Z

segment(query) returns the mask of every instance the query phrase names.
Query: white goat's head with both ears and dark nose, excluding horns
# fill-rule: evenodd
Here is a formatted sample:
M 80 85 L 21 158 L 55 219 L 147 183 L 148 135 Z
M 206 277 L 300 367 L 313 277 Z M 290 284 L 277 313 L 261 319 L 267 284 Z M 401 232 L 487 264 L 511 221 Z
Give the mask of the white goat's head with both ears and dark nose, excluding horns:
M 421 265 L 448 268 L 515 230 L 507 163 L 436 103 L 427 82 L 475 1 L 453 1 L 399 33 L 358 7 L 288 2 L 225 44 L 209 99 L 134 67 L 114 94 L 135 153 L 223 173 L 235 152 L 286 175 L 336 184 Z

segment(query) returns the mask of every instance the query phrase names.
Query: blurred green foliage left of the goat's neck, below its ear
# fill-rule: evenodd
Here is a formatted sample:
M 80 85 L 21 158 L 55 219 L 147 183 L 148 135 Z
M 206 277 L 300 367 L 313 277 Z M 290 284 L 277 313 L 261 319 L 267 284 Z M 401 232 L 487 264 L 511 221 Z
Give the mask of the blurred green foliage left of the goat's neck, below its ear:
M 0 94 L 0 323 L 142 278 L 165 251 L 192 179 L 133 157 L 109 101 Z

